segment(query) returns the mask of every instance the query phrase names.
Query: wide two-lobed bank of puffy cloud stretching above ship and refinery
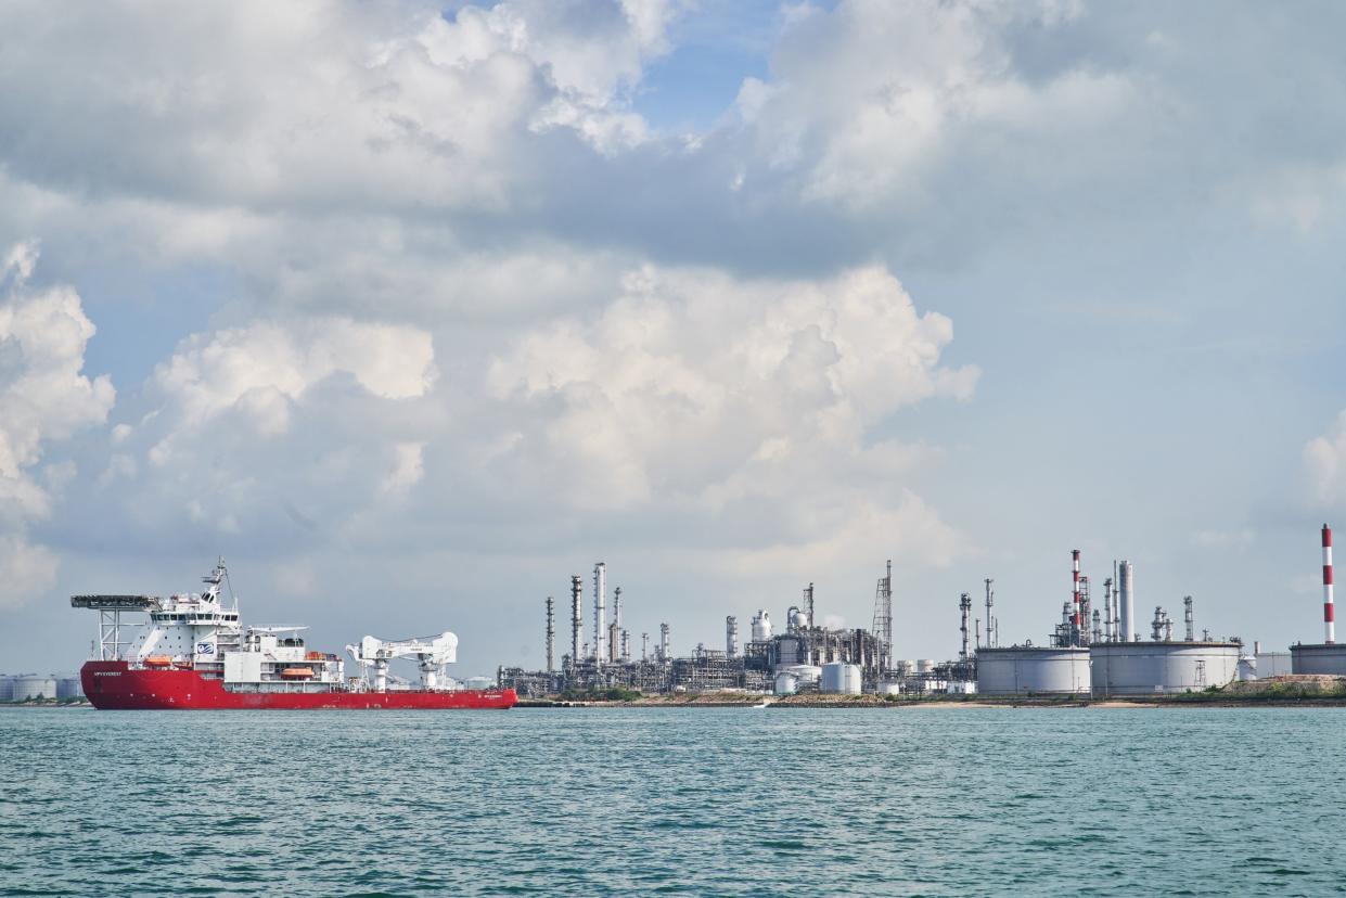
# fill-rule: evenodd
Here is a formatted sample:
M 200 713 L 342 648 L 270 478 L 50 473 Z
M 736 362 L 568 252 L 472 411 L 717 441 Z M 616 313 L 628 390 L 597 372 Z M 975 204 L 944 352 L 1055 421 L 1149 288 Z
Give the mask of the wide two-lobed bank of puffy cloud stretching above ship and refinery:
M 950 557 L 913 491 L 940 452 L 891 419 L 970 399 L 979 372 L 942 362 L 952 322 L 890 272 L 645 265 L 611 291 L 592 314 L 456 343 L 447 380 L 433 346 L 451 333 L 306 318 L 192 335 L 116 428 L 90 485 L 106 512 L 87 522 L 277 553 L 526 552 L 616 528 L 604 539 L 719 567 L 727 548 L 802 564 L 898 534 Z

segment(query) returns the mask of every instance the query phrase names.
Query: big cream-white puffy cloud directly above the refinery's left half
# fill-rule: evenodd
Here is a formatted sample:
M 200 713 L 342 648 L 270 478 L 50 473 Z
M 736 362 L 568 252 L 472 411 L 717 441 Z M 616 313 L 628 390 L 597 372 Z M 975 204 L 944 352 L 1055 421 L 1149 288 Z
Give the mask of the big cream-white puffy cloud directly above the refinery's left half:
M 883 268 L 779 281 L 646 267 L 602 314 L 494 358 L 487 388 L 521 424 L 489 464 L 586 513 L 688 516 L 693 539 L 763 557 L 853 553 L 830 534 L 867 520 L 879 540 L 929 524 L 942 544 L 948 528 L 902 489 L 927 456 L 872 431 L 970 396 L 977 369 L 941 364 L 952 338 Z

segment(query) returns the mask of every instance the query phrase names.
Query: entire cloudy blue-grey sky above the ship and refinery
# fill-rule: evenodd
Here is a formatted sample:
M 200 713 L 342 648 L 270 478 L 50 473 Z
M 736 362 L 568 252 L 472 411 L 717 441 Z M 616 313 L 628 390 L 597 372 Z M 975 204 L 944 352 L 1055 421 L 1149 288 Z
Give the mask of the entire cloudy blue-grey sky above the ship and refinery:
M 246 621 L 542 662 L 596 561 L 957 650 L 1320 638 L 1334 3 L 0 7 L 0 669 L 223 556 Z M 591 588 L 591 587 L 590 587 Z M 591 595 L 586 595 L 586 626 Z M 568 626 L 559 630 L 568 637 Z M 564 637 L 559 638 L 564 641 Z

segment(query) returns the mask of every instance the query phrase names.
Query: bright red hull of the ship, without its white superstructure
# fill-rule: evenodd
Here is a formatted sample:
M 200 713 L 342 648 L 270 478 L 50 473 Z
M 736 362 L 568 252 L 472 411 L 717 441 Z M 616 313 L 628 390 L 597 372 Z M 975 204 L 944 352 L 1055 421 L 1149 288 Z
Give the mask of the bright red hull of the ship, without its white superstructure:
M 132 669 L 125 661 L 89 661 L 79 679 L 85 697 L 100 711 L 450 711 L 505 710 L 518 701 L 514 689 L 232 692 L 195 670 Z

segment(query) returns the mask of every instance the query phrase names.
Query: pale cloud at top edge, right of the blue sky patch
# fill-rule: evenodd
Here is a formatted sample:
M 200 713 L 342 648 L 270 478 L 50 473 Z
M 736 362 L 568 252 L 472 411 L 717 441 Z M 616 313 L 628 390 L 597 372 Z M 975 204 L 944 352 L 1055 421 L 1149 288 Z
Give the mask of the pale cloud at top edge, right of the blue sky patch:
M 874 206 L 929 188 L 950 144 L 1106 124 L 1135 101 L 1124 75 L 1066 67 L 1022 73 L 1005 40 L 1020 22 L 1054 28 L 1063 4 L 841 3 L 798 20 L 750 78 L 738 110 L 758 166 L 791 175 L 804 199 Z

